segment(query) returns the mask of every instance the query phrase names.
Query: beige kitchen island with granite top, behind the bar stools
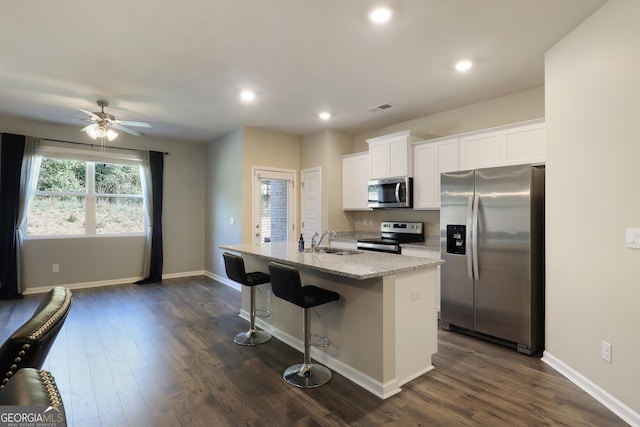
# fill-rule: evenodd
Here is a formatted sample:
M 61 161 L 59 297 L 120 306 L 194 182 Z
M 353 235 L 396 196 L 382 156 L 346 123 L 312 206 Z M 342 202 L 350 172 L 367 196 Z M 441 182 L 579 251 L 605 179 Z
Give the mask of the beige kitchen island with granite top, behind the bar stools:
M 331 345 L 312 347 L 313 359 L 376 396 L 386 399 L 400 386 L 433 369 L 437 351 L 436 267 L 439 259 L 357 251 L 351 255 L 298 252 L 297 245 L 263 243 L 223 245 L 240 253 L 247 271 L 269 272 L 270 261 L 292 265 L 303 284 L 340 294 L 340 300 L 316 307 L 313 333 Z M 271 311 L 257 325 L 303 350 L 302 310 L 272 297 L 261 285 L 256 307 Z M 241 314 L 248 318 L 249 292 L 242 289 Z M 268 344 L 267 344 L 268 345 Z M 290 364 L 282 361 L 282 368 Z

